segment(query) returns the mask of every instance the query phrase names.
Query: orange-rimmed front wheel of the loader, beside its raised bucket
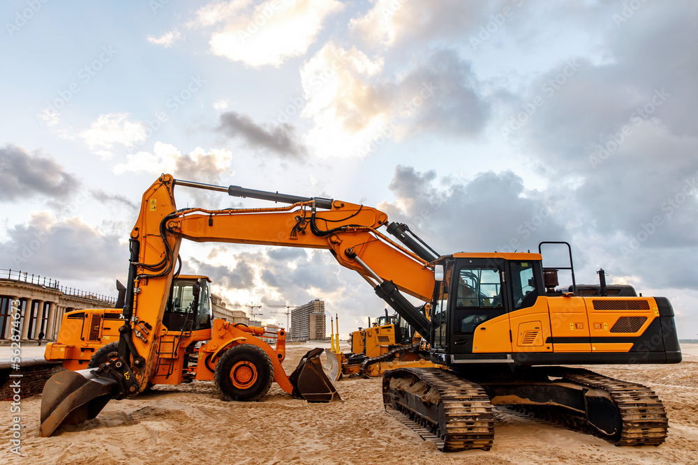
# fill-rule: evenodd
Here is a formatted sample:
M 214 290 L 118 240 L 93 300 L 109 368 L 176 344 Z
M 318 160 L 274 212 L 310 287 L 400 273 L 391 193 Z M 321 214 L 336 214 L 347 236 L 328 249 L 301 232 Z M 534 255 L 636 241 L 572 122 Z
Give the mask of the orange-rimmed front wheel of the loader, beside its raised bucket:
M 252 344 L 228 349 L 216 363 L 214 382 L 226 401 L 258 401 L 267 394 L 272 381 L 272 360 L 265 351 Z

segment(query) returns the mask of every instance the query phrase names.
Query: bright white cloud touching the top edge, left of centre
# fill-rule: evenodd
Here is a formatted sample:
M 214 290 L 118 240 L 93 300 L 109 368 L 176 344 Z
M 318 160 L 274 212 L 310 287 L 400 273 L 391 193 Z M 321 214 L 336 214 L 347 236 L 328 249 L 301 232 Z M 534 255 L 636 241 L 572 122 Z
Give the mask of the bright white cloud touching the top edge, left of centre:
M 212 34 L 211 52 L 247 66 L 281 66 L 315 41 L 322 22 L 343 8 L 336 0 L 268 0 L 246 14 L 247 2 L 215 3 L 198 13 L 197 25 L 225 22 Z

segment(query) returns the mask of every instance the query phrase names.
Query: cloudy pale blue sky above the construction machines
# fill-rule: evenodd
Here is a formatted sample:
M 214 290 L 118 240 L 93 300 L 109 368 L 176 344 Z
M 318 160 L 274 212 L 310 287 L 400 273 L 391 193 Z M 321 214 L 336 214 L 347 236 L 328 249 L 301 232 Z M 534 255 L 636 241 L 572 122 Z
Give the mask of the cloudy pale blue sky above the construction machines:
M 442 254 L 568 241 L 578 284 L 602 267 L 697 336 L 695 2 L 13 0 L 0 19 L 0 268 L 115 295 L 167 172 L 380 208 Z M 344 336 L 385 307 L 323 250 L 181 257 L 265 323 L 322 298 Z

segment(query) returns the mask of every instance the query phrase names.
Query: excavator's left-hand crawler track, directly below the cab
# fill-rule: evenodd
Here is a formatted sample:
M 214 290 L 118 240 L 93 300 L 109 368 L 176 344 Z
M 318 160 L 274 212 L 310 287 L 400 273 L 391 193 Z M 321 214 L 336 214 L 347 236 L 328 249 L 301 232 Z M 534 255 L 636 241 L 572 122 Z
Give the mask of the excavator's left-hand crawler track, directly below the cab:
M 385 372 L 383 404 L 386 410 L 401 411 L 438 436 L 439 441 L 434 442 L 444 452 L 492 447 L 494 413 L 487 393 L 444 369 L 399 368 Z

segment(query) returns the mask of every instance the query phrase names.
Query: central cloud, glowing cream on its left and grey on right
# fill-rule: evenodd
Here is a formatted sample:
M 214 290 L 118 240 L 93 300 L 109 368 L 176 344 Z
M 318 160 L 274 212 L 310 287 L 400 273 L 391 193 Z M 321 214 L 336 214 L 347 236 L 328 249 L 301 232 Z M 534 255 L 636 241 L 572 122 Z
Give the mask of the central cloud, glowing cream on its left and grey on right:
M 487 123 L 489 103 L 470 63 L 456 52 L 432 51 L 395 76 L 386 75 L 384 65 L 378 56 L 332 42 L 305 63 L 302 116 L 313 119 L 306 140 L 317 153 L 367 155 L 387 139 L 424 131 L 472 137 Z

